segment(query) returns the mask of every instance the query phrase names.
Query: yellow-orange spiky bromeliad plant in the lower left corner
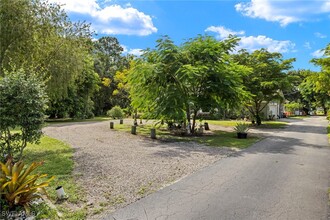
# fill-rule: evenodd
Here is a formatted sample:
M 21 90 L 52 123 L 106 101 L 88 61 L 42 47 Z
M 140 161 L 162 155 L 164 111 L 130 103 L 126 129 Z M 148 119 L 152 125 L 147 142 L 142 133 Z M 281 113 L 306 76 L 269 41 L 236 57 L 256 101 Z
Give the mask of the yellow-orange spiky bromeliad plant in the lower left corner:
M 34 162 L 25 168 L 22 161 L 13 163 L 8 160 L 6 164 L 0 162 L 0 165 L 0 194 L 7 202 L 9 210 L 22 206 L 29 213 L 30 203 L 41 198 L 42 194 L 46 194 L 44 188 L 54 177 L 40 182 L 39 180 L 46 177 L 47 174 L 32 174 L 36 168 L 42 165 L 42 162 Z

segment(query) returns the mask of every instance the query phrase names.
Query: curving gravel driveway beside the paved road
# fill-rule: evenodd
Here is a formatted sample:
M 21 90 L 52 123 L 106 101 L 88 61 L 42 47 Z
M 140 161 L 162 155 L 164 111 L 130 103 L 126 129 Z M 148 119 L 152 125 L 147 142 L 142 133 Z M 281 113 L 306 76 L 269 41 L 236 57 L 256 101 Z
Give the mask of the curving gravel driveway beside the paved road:
M 44 133 L 74 148 L 74 174 L 87 194 L 88 219 L 101 219 L 234 152 L 151 140 L 110 130 L 109 122 L 51 125 Z

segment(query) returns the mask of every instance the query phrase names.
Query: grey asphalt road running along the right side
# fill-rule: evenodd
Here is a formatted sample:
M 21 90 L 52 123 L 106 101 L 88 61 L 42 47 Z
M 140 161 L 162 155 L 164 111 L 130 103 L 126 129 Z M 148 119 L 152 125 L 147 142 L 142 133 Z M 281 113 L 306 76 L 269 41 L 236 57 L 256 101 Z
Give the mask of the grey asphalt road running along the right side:
M 330 219 L 327 123 L 295 120 L 106 219 Z

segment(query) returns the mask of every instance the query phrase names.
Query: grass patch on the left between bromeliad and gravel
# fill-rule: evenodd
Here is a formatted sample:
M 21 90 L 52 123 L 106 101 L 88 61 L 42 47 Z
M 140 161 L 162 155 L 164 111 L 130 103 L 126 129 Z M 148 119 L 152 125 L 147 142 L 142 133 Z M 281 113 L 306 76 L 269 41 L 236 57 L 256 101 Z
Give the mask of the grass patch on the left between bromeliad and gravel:
M 49 176 L 55 176 L 55 180 L 47 188 L 47 192 L 51 201 L 56 201 L 55 188 L 63 186 L 69 198 L 62 204 L 57 204 L 57 209 L 63 214 L 65 219 L 84 219 L 86 210 L 71 209 L 76 204 L 83 202 L 84 196 L 81 188 L 75 183 L 72 171 L 74 162 L 72 160 L 73 149 L 59 141 L 47 136 L 41 138 L 39 145 L 30 144 L 25 150 L 24 161 L 27 164 L 33 161 L 44 161 L 44 165 L 39 167 L 36 171 L 46 173 Z M 56 216 L 49 216 L 50 219 L 56 219 Z

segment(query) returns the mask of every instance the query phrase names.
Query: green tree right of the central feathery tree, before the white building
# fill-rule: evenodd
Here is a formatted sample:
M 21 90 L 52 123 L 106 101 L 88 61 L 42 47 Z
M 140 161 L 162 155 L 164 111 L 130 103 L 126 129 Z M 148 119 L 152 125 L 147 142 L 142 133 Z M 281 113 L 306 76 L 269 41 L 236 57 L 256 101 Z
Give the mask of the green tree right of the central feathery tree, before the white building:
M 252 53 L 241 50 L 233 57 L 239 64 L 251 69 L 243 76 L 245 90 L 251 94 L 245 105 L 260 125 L 261 112 L 267 104 L 272 100 L 283 99 L 282 91 L 289 86 L 286 71 L 292 68 L 295 59 L 283 60 L 282 54 L 265 49 Z

